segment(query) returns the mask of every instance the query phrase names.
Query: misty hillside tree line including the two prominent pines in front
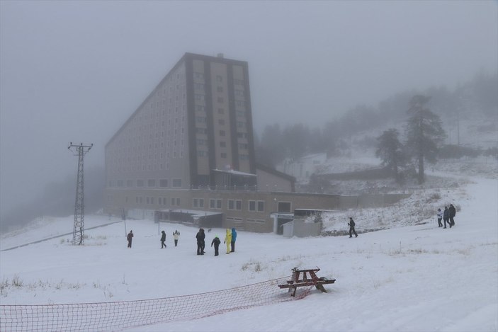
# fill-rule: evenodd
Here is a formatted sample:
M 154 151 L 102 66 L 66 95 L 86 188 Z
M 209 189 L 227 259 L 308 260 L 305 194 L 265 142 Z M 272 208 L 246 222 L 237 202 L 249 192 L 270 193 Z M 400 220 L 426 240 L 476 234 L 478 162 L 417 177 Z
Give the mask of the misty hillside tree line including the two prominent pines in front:
M 441 118 L 444 118 L 447 125 L 454 127 L 459 119 L 475 115 L 496 120 L 497 91 L 498 74 L 489 75 L 480 72 L 467 83 L 459 84 L 454 91 L 441 86 L 428 88 L 422 93 L 417 91 L 396 93 L 381 101 L 377 108 L 358 105 L 340 118 L 325 122 L 322 127 L 310 128 L 302 123 L 285 127 L 281 127 L 278 123 L 267 125 L 261 137 L 255 135 L 256 160 L 274 167 L 283 159 L 298 159 L 306 154 L 318 152 L 327 152 L 329 156 L 347 155 L 351 153 L 354 134 L 373 129 L 382 130 L 386 124 L 399 126 L 406 121 L 403 132 L 397 127 L 390 128 L 380 137 L 367 136 L 363 141 L 355 143 L 365 149 L 381 149 L 378 151 L 381 159 L 387 158 L 388 151 L 397 151 L 397 154 L 389 152 L 389 160 L 384 160 L 383 164 L 393 168 L 398 180 L 401 180 L 400 168 L 408 164 L 409 156 L 413 160 L 418 154 L 415 158 L 419 169 L 418 177 L 419 181 L 423 181 L 424 161 L 434 161 L 436 156 L 442 158 L 476 154 L 497 156 L 497 149 L 479 151 L 443 145 L 446 133 L 441 121 Z M 406 136 L 404 143 L 400 142 L 401 133 Z

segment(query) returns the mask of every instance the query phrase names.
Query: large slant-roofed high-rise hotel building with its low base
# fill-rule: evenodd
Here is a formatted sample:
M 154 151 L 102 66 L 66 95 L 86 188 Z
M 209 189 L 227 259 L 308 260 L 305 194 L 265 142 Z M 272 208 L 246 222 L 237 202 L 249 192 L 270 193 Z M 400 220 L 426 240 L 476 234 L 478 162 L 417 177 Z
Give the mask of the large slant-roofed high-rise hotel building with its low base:
M 274 231 L 275 212 L 337 204 L 256 164 L 247 62 L 191 53 L 106 144 L 105 200 L 112 214 L 251 231 Z

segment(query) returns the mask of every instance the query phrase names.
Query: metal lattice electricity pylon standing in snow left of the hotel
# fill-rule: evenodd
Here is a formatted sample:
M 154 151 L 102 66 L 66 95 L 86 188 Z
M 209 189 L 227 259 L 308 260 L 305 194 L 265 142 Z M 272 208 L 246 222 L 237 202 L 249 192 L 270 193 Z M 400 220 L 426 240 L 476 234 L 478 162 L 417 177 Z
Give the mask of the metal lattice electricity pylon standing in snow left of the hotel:
M 85 233 L 85 213 L 84 213 L 84 181 L 83 181 L 83 157 L 86 152 L 90 151 L 94 144 L 79 145 L 69 143 L 70 151 L 74 152 L 74 156 L 78 156 L 78 175 L 76 179 L 76 201 L 74 202 L 74 229 L 73 229 L 73 244 L 84 244 Z

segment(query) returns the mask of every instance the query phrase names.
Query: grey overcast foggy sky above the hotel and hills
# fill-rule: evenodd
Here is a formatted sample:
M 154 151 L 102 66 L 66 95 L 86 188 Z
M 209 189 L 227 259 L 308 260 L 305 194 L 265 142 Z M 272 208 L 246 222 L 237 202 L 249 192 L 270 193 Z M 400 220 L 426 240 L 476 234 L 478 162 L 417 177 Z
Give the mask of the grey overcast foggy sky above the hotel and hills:
M 249 63 L 254 127 L 313 127 L 498 62 L 497 1 L 0 0 L 0 209 L 85 168 L 185 52 Z

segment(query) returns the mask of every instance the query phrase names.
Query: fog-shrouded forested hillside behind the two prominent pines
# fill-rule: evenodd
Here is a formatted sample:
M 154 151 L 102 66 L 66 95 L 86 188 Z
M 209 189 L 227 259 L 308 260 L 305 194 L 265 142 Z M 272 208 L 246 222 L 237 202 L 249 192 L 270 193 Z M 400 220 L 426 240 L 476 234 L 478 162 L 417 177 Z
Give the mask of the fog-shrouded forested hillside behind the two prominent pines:
M 417 94 L 430 97 L 428 107 L 443 122 L 446 144 L 497 156 L 498 74 L 481 71 L 453 90 L 439 86 L 401 91 L 375 106 L 357 105 L 341 117 L 324 122 L 322 127 L 269 124 L 256 137 L 256 159 L 261 164 L 276 166 L 285 158 L 297 159 L 319 152 L 329 156 L 371 152 L 384 130 L 395 128 L 403 133 L 409 101 Z

